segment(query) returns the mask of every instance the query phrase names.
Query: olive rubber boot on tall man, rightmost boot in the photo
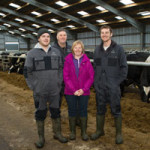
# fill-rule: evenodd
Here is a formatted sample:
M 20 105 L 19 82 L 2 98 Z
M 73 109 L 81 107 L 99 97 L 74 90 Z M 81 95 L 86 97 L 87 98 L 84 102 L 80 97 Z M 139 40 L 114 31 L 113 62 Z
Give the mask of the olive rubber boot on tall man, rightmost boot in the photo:
M 115 126 L 116 126 L 116 144 L 122 144 L 123 137 L 122 137 L 122 117 L 121 116 L 115 118 Z

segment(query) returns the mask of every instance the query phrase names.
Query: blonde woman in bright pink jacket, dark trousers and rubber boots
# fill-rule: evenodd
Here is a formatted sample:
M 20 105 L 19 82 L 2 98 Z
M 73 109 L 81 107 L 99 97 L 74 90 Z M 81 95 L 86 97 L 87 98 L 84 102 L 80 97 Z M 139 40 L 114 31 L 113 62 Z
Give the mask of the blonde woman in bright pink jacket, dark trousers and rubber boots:
M 89 58 L 84 54 L 84 45 L 79 40 L 73 43 L 72 53 L 65 58 L 63 77 L 68 104 L 70 140 L 76 139 L 76 116 L 79 115 L 82 140 L 87 141 L 89 139 L 86 134 L 87 106 L 94 70 Z

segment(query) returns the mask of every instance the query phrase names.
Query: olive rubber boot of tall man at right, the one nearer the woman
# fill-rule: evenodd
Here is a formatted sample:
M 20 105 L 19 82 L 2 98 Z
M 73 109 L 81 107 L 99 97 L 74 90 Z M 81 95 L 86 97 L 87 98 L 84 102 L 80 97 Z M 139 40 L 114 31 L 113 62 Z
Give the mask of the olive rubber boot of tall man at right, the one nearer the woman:
M 96 132 L 91 135 L 91 140 L 96 140 L 105 135 L 104 133 L 105 115 L 96 116 Z

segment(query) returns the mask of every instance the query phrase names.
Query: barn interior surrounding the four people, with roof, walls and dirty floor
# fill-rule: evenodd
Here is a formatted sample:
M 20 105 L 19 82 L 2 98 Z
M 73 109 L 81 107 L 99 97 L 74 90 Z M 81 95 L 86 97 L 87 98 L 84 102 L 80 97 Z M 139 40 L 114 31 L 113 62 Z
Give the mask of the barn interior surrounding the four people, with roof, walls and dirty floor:
M 75 40 L 81 40 L 91 61 L 94 49 L 101 43 L 99 28 L 102 25 L 112 27 L 112 39 L 122 45 L 127 54 L 149 55 L 149 6 L 150 0 L 1 0 L 0 97 L 3 108 L 0 107 L 0 112 L 4 117 L 0 119 L 0 139 L 2 139 L 0 149 L 35 150 L 33 143 L 37 134 L 33 120 L 33 96 L 25 82 L 23 67 L 27 52 L 37 43 L 37 31 L 40 28 L 48 28 L 51 32 L 51 45 L 56 40 L 57 30 L 61 27 L 65 28 L 68 35 L 67 42 L 72 45 Z M 134 62 L 129 60 L 128 65 L 149 68 L 150 63 L 145 61 L 146 59 Z M 12 64 L 15 64 L 15 67 Z M 114 138 L 111 138 L 115 136 L 115 130 L 108 106 L 106 135 L 94 142 L 83 142 L 77 127 L 75 142 L 69 141 L 69 144 L 64 145 L 58 143 L 53 140 L 51 121 L 48 118 L 46 120 L 47 141 L 44 149 L 149 150 L 149 97 L 148 100 L 142 101 L 138 84 L 132 82 L 125 87 L 121 106 L 124 144 L 115 145 Z M 6 110 L 3 110 L 4 107 L 7 107 Z M 69 135 L 67 111 L 66 100 L 63 98 L 62 132 L 66 136 Z M 7 114 L 8 116 L 5 116 Z M 13 114 L 16 114 L 16 118 Z M 6 118 L 5 121 L 3 118 Z M 95 131 L 95 127 L 96 100 L 95 90 L 92 87 L 88 105 L 89 135 Z

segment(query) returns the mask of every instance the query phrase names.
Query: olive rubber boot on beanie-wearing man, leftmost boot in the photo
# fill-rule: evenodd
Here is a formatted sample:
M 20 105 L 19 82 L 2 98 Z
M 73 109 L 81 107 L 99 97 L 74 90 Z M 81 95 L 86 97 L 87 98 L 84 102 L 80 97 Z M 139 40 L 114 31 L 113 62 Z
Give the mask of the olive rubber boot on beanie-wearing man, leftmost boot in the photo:
M 44 144 L 45 144 L 44 121 L 36 120 L 36 124 L 37 124 L 37 130 L 38 130 L 38 135 L 39 135 L 39 141 L 37 141 L 35 143 L 35 146 L 37 148 L 42 148 L 42 147 L 44 147 Z

